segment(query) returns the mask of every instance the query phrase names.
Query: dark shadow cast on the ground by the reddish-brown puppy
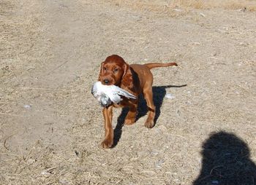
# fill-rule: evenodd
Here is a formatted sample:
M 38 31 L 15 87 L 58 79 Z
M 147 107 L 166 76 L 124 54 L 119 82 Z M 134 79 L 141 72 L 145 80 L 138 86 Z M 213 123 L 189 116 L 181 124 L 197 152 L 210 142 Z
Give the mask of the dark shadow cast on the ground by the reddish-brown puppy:
M 185 87 L 187 84 L 184 85 L 165 85 L 165 86 L 154 86 L 152 87 L 153 91 L 153 101 L 154 101 L 154 106 L 156 106 L 156 115 L 154 117 L 154 125 L 157 123 L 157 119 L 159 118 L 161 111 L 160 108 L 162 106 L 162 101 L 165 98 L 166 95 L 166 89 L 170 87 Z M 116 128 L 114 130 L 114 143 L 113 147 L 115 147 L 118 143 L 118 141 L 121 138 L 121 133 L 122 133 L 122 127 L 124 126 L 124 119 L 128 113 L 129 109 L 128 108 L 123 108 L 121 111 L 120 116 L 117 119 L 117 124 Z M 140 117 L 143 117 L 147 114 L 148 112 L 148 106 L 146 104 L 145 99 L 143 98 L 143 95 L 139 96 L 139 105 L 138 105 L 138 115 L 136 117 L 136 122 Z

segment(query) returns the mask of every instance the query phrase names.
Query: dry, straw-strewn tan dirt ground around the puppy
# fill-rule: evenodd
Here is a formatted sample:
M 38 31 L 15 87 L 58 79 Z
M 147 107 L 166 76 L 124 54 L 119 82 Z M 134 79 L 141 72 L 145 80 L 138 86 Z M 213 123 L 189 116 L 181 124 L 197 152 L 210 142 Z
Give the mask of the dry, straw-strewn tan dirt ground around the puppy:
M 256 184 L 256 13 L 140 2 L 0 1 L 1 184 Z M 112 54 L 178 67 L 153 71 L 155 127 L 117 109 L 102 149 Z

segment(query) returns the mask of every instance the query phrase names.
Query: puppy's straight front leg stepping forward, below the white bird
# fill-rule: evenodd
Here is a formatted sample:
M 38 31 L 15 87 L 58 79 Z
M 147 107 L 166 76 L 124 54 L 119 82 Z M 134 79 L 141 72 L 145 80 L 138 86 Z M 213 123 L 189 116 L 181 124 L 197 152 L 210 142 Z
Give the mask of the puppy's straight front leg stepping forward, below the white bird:
M 113 117 L 113 106 L 108 106 L 103 109 L 103 116 L 105 119 L 105 139 L 102 141 L 102 147 L 108 149 L 113 145 L 113 127 L 112 127 L 112 117 Z

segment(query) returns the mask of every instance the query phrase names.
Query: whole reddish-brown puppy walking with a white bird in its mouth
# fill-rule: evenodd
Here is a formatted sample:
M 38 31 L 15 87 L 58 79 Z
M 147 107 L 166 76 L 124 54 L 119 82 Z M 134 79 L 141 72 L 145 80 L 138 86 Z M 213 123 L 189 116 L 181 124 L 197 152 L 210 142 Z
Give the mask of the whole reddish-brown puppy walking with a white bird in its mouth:
M 118 55 L 111 55 L 101 64 L 99 81 L 106 85 L 114 84 L 124 90 L 127 90 L 133 95 L 136 95 L 137 97 L 140 95 L 140 93 L 143 93 L 149 111 L 145 126 L 151 128 L 154 126 L 155 106 L 152 93 L 153 75 L 151 74 L 150 69 L 167 66 L 177 66 L 177 64 L 147 63 L 144 65 L 128 65 L 124 59 Z M 122 98 L 123 101 L 120 103 L 113 103 L 103 109 L 103 116 L 105 119 L 105 140 L 102 141 L 103 148 L 110 148 L 113 145 L 113 107 L 128 106 L 129 112 L 127 117 L 125 117 L 124 124 L 132 125 L 135 122 L 138 108 L 138 98 Z

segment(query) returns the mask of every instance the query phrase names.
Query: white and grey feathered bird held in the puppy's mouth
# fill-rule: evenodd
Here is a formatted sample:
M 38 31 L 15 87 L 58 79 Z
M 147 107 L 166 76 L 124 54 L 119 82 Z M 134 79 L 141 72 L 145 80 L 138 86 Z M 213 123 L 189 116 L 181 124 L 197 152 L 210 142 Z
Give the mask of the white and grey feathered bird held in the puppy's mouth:
M 132 95 L 127 90 L 123 90 L 116 85 L 104 85 L 101 82 L 95 82 L 91 88 L 91 94 L 94 98 L 99 101 L 102 106 L 109 106 L 113 103 L 120 103 L 123 99 L 121 96 L 126 98 L 136 99 L 135 95 Z

